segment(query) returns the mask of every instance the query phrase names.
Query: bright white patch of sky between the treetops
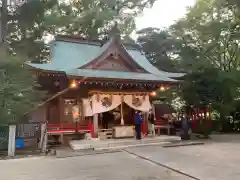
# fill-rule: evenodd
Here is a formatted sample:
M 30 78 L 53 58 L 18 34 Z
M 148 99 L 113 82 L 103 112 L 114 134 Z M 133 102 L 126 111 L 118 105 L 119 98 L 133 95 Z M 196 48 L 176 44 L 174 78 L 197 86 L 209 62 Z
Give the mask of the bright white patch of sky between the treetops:
M 196 0 L 157 0 L 152 8 L 145 9 L 136 18 L 137 30 L 146 27 L 164 28 L 186 14 L 186 8 L 193 6 Z

